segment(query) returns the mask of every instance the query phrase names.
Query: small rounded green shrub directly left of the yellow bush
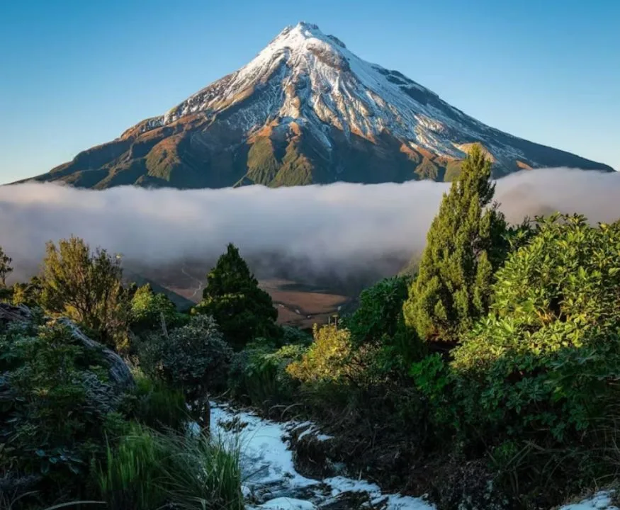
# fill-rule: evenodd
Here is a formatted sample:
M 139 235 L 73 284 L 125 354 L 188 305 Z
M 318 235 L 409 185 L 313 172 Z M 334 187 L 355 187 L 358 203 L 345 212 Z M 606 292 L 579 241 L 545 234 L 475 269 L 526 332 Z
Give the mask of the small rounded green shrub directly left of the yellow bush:
M 299 361 L 305 349 L 303 344 L 276 348 L 268 341 L 251 342 L 232 358 L 229 386 L 233 395 L 265 409 L 291 402 L 296 385 L 286 367 Z

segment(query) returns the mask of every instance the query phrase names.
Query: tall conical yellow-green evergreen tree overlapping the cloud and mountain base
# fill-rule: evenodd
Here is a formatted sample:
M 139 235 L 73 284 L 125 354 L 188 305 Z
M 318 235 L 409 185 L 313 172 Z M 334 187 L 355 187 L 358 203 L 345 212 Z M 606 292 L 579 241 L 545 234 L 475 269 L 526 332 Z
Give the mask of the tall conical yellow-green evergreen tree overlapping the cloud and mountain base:
M 403 307 L 407 326 L 422 339 L 456 343 L 488 310 L 493 274 L 508 246 L 490 176 L 490 160 L 474 145 L 444 193 Z

